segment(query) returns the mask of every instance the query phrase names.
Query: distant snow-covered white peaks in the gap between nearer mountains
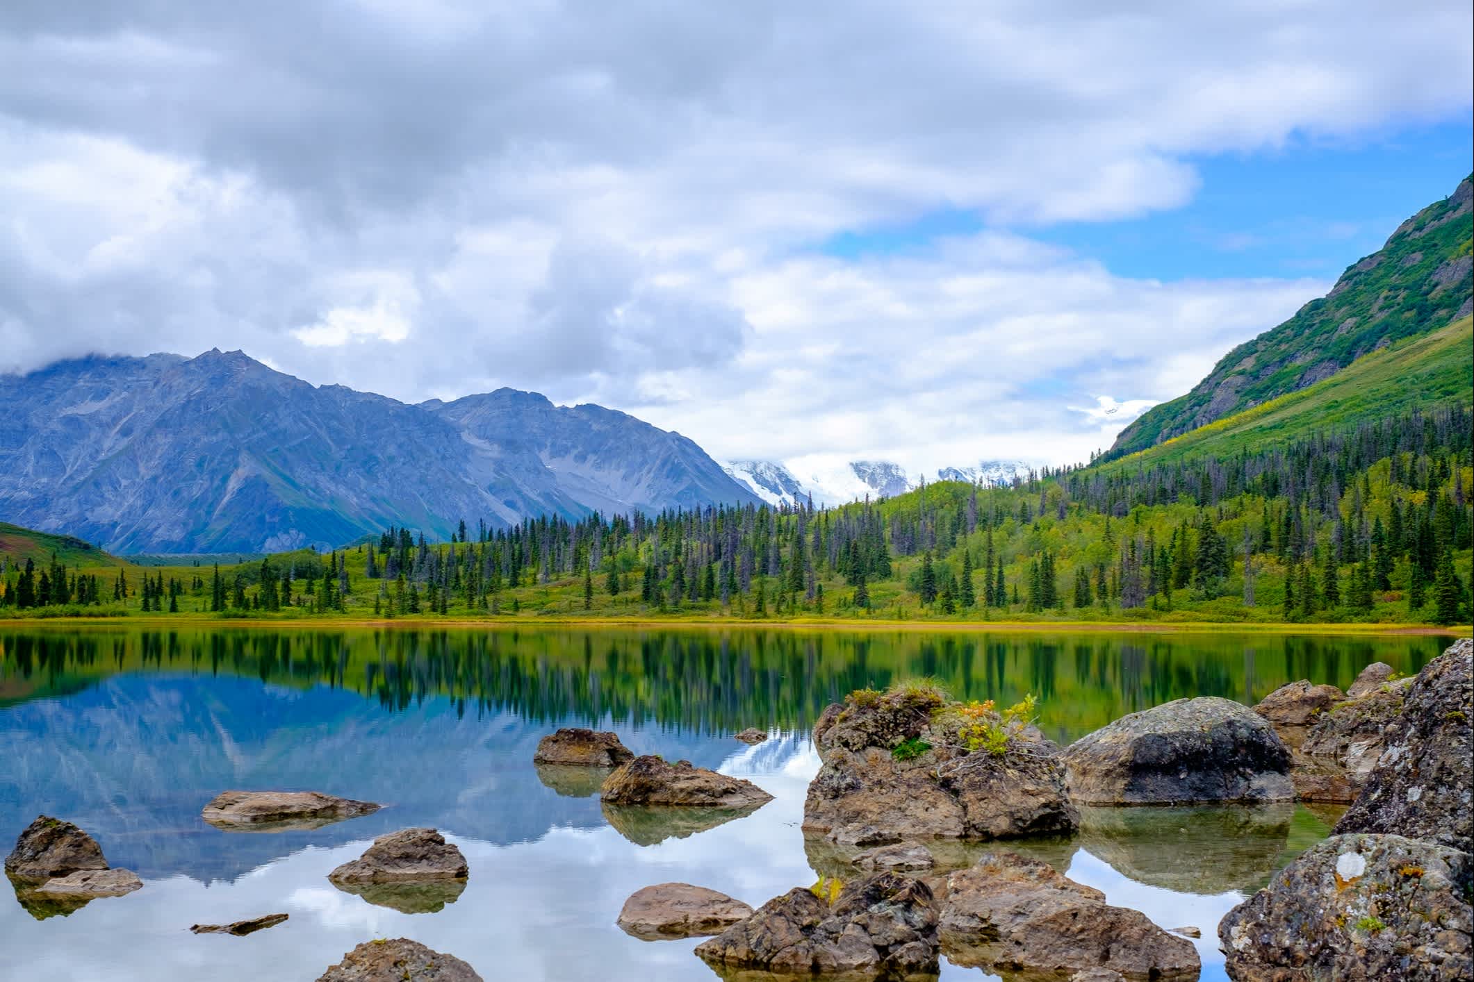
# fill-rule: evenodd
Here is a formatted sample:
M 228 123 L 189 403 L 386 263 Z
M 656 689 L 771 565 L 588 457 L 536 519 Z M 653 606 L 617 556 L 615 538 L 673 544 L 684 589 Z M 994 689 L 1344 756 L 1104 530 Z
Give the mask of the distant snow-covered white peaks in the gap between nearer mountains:
M 769 505 L 846 505 L 870 498 L 893 498 L 912 490 L 921 478 L 912 478 L 905 468 L 890 461 L 848 461 L 839 465 L 802 465 L 794 468 L 778 461 L 730 461 L 722 465 L 728 476 L 749 487 Z M 943 467 L 936 480 L 968 484 L 1011 484 L 1014 477 L 1027 477 L 1024 461 L 982 461 L 974 467 Z

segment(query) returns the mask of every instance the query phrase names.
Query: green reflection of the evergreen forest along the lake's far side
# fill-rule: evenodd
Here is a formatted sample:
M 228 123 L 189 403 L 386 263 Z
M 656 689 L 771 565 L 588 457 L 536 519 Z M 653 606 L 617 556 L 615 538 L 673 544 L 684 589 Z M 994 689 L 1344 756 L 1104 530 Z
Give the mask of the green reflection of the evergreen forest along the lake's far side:
M 388 710 L 448 696 L 460 714 L 615 720 L 696 732 L 803 729 L 865 686 L 935 676 L 955 696 L 1001 705 L 1033 692 L 1041 726 L 1075 739 L 1113 718 L 1194 695 L 1253 701 L 1294 679 L 1349 685 L 1381 660 L 1415 671 L 1440 637 L 1231 633 L 957 633 L 843 630 L 475 630 L 178 627 L 0 629 L 0 699 L 75 692 L 118 671 L 171 670 L 326 685 Z M 1253 657 L 1246 654 L 1254 648 Z M 1069 652 L 1073 671 L 1061 671 Z M 977 655 L 982 654 L 979 660 Z

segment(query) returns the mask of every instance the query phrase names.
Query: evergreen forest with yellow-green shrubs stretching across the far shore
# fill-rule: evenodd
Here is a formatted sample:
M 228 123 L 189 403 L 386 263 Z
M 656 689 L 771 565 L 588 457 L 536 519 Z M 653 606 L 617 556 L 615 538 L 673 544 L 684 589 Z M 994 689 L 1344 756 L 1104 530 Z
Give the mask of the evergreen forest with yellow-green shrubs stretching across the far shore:
M 1290 621 L 1470 618 L 1464 403 L 1285 446 L 945 481 L 833 509 L 464 521 L 236 565 L 0 557 L 0 615 Z

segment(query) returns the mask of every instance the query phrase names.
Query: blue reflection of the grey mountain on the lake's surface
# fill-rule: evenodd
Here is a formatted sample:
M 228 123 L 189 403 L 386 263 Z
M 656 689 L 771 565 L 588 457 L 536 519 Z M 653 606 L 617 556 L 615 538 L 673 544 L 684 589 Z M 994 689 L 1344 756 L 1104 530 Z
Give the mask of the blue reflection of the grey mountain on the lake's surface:
M 598 799 L 544 788 L 532 752 L 551 723 L 460 714 L 444 698 L 386 711 L 357 693 L 254 679 L 118 676 L 0 714 L 0 839 L 38 813 L 77 822 L 140 876 L 234 879 L 307 845 L 405 826 L 495 844 L 604 823 Z M 716 766 L 728 752 L 678 732 L 622 729 L 631 746 Z M 315 830 L 231 833 L 200 808 L 230 789 L 315 789 L 386 807 Z

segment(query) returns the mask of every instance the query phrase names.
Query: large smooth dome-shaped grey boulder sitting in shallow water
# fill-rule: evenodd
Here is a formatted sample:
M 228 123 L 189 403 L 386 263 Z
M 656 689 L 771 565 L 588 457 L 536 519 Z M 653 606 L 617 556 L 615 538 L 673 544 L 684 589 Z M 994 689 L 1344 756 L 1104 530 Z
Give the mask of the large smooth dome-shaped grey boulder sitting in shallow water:
M 1132 713 L 1064 748 L 1080 804 L 1287 801 L 1290 751 L 1257 713 L 1232 699 L 1175 699 Z

